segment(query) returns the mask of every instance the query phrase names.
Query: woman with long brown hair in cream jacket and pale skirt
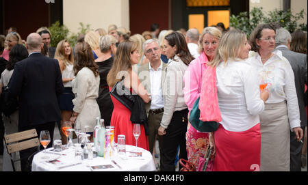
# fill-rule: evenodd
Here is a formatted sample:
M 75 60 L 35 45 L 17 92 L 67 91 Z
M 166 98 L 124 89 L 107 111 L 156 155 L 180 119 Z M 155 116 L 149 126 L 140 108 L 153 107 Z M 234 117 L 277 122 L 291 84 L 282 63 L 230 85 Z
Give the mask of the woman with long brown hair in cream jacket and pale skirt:
M 99 71 L 94 62 L 93 53 L 87 42 L 79 42 L 75 46 L 75 60 L 73 71 L 76 78 L 73 79 L 73 114 L 70 121 L 80 128 L 81 132 L 91 134 L 96 124 L 96 118 L 101 117 L 97 97 L 99 97 Z M 87 126 L 87 127 L 85 127 Z

